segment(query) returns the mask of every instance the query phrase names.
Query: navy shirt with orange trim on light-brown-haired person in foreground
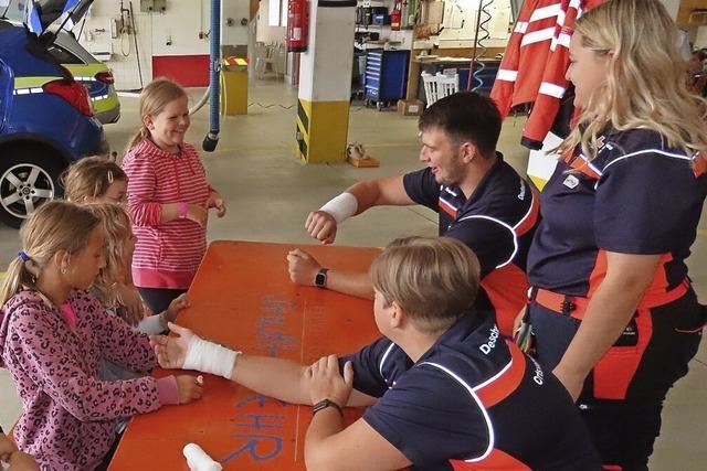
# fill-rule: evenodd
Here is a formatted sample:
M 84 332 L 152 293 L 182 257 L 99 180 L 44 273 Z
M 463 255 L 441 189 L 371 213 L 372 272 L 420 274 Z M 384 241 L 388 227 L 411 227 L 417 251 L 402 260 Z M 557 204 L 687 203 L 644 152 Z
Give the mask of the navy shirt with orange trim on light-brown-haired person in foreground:
M 531 469 L 600 469 L 567 390 L 509 346 L 489 313 L 462 315 L 414 364 L 386 338 L 347 361 L 354 387 L 379 397 L 363 420 L 415 469 L 492 465 L 499 454 Z

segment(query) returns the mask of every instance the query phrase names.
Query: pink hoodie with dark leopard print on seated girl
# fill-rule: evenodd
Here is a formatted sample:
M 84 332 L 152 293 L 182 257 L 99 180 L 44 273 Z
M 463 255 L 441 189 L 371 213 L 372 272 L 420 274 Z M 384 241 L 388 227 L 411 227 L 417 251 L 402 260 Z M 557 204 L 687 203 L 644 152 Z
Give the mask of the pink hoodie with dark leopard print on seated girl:
M 115 439 L 115 419 L 177 403 L 173 376 L 102 382 L 99 361 L 135 371 L 157 365 L 148 338 L 107 314 L 87 291 L 74 290 L 65 315 L 36 291 L 21 291 L 0 310 L 0 366 L 10 370 L 22 399 L 14 438 L 42 470 L 88 471 Z

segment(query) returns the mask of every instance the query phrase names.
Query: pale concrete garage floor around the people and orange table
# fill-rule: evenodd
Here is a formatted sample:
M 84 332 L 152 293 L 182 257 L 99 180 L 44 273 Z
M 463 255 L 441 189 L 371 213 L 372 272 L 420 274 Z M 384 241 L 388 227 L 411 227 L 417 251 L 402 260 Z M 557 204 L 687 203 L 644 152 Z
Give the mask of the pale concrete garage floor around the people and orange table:
M 190 90 L 196 99 L 203 90 Z M 371 178 L 398 174 L 420 168 L 416 118 L 393 111 L 378 113 L 351 108 L 349 141 L 365 143 L 381 161 L 379 169 L 356 169 L 347 164 L 303 165 L 294 157 L 296 88 L 276 82 L 252 84 L 247 116 L 222 121 L 221 140 L 213 153 L 204 153 L 211 184 L 225 197 L 229 213 L 209 223 L 209 239 L 244 239 L 281 243 L 314 243 L 304 229 L 309 211 L 350 184 Z M 123 117 L 105 127 L 114 150 L 120 150 L 137 128 L 137 98 L 123 97 Z M 208 129 L 208 111 L 192 118 L 188 141 L 201 147 Z M 525 172 L 527 151 L 519 135 L 523 119 L 508 118 L 499 150 Z M 525 173 L 523 173 L 525 174 Z M 436 215 L 421 207 L 374 208 L 347 221 L 337 243 L 354 246 L 383 246 L 403 235 L 436 234 Z M 689 259 L 690 276 L 703 302 L 707 302 L 707 217 L 703 213 L 700 233 Z M 0 226 L 0 267 L 7 267 L 19 249 L 14 229 Z M 286 269 L 285 260 L 281 269 Z M 1 270 L 1 268 L 0 268 Z M 669 393 L 663 414 L 663 433 L 651 461 L 654 470 L 705 470 L 707 468 L 707 346 L 690 365 L 686 378 Z M 7 370 L 0 370 L 0 424 L 9 428 L 21 406 Z

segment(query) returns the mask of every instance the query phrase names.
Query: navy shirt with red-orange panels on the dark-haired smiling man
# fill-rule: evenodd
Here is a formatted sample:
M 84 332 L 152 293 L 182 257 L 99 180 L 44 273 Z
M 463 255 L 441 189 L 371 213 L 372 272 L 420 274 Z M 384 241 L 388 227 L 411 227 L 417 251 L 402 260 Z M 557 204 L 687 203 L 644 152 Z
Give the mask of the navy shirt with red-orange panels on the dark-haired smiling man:
M 441 185 L 429 168 L 403 176 L 412 201 L 439 213 L 440 236 L 454 237 L 478 257 L 482 290 L 477 307 L 494 308 L 504 335 L 527 301 L 526 258 L 537 226 L 539 199 L 497 152 L 496 163 L 466 197 Z

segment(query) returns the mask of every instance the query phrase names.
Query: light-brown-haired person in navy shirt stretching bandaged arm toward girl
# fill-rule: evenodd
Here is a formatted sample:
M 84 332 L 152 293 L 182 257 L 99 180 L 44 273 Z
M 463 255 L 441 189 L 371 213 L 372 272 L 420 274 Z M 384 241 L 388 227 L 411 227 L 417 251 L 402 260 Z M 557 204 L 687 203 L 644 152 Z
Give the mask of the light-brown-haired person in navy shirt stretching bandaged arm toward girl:
M 373 263 L 376 324 L 358 353 L 304 366 L 233 352 L 170 324 L 163 367 L 223 375 L 313 405 L 313 470 L 600 470 L 567 390 L 473 308 L 479 264 L 451 237 L 399 239 Z M 344 427 L 341 408 L 363 407 Z

